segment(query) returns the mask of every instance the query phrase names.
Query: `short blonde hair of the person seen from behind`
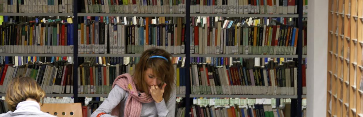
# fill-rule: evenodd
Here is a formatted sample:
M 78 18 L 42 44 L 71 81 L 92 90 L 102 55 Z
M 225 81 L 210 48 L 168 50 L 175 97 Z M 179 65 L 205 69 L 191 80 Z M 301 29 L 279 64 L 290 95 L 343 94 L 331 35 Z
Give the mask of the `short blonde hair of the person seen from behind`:
M 34 99 L 38 103 L 45 96 L 43 89 L 30 77 L 15 78 L 8 85 L 5 101 L 11 111 L 16 110 L 16 106 L 26 99 Z

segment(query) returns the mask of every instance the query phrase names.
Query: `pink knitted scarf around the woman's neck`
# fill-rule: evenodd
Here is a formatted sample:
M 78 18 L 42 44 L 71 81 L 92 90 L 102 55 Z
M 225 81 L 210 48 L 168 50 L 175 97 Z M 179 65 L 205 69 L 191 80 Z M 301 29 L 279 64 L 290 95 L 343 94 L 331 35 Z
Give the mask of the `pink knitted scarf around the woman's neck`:
M 126 100 L 124 117 L 140 117 L 142 103 L 151 103 L 154 100 L 146 93 L 139 93 L 136 89 L 132 76 L 128 73 L 118 76 L 112 88 L 118 85 L 125 91 L 129 92 L 129 97 Z M 111 112 L 111 115 L 119 116 L 120 104 L 118 104 Z M 132 111 L 131 111 L 132 109 Z

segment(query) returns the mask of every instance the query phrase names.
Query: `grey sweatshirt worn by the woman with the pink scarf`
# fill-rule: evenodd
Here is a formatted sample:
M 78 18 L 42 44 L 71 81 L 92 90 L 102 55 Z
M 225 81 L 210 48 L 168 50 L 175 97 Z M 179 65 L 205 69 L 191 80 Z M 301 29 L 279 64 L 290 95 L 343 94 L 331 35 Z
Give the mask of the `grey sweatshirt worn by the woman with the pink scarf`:
M 109 93 L 108 98 L 92 113 L 91 117 L 96 117 L 98 113 L 110 113 L 115 106 L 121 103 L 119 116 L 123 117 L 126 100 L 129 93 L 116 85 Z M 172 90 L 170 99 L 166 103 L 164 100 L 160 103 L 142 103 L 141 117 L 174 117 L 175 116 L 175 98 L 176 93 Z M 132 111 L 132 109 L 131 109 Z M 110 114 L 103 114 L 101 117 L 116 117 Z

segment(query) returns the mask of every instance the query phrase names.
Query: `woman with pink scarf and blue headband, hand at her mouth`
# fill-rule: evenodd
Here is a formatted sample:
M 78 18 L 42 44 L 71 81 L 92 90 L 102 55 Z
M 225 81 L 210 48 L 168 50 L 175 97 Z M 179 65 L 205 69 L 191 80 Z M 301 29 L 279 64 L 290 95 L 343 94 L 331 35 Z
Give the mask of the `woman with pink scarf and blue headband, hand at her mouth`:
M 134 74 L 118 76 L 108 98 L 91 117 L 174 117 L 176 94 L 170 57 L 162 49 L 144 51 Z

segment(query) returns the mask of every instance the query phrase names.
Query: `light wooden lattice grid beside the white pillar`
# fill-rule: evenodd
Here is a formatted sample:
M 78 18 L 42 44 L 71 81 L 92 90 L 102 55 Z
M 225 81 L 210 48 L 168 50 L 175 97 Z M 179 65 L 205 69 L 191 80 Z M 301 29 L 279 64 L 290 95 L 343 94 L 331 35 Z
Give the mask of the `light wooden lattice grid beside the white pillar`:
M 362 117 L 363 1 L 329 0 L 327 116 Z

